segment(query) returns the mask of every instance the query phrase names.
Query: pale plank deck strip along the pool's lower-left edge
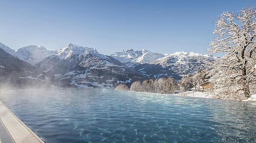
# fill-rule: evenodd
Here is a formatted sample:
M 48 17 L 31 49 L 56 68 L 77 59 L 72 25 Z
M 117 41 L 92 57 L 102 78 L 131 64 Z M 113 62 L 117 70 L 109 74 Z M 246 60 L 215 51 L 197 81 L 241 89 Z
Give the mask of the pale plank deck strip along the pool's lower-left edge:
M 0 120 L 14 143 L 44 143 L 0 101 Z M 1 143 L 1 141 L 0 141 Z

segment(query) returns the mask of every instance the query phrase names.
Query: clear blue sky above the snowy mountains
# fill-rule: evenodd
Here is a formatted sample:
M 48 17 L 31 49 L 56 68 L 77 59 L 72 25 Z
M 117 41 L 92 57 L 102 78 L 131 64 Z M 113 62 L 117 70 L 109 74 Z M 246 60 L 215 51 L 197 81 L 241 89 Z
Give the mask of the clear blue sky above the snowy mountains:
M 207 53 L 223 11 L 255 0 L 0 0 L 0 42 L 12 49 L 76 45 L 111 54 L 123 49 Z

